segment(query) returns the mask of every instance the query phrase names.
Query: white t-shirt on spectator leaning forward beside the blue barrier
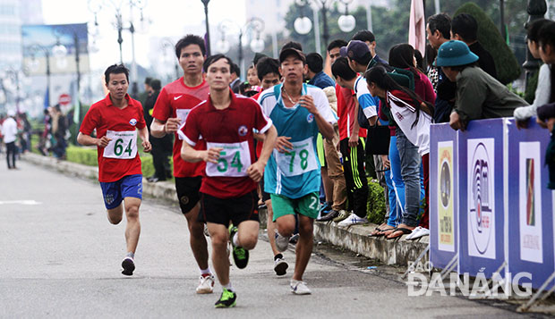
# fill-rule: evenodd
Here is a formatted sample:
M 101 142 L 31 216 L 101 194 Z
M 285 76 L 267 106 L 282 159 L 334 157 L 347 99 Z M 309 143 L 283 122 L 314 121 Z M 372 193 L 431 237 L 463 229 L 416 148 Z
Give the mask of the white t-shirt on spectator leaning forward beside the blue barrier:
M 395 97 L 391 92 L 388 92 L 387 98 L 389 108 L 391 108 L 391 115 L 395 122 L 397 122 L 399 129 L 405 133 L 406 139 L 418 147 L 419 155 L 423 156 L 430 153 L 431 116 L 428 113 L 420 112 L 418 122 L 413 127 L 413 123 L 416 120 L 416 109 L 414 106 Z

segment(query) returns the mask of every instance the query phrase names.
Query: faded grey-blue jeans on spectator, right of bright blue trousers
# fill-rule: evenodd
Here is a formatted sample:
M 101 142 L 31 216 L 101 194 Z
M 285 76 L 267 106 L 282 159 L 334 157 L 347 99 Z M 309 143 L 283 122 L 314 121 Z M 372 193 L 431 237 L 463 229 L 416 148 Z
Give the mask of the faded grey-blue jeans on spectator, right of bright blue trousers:
M 405 212 L 402 223 L 409 227 L 418 226 L 418 213 L 421 197 L 421 157 L 418 147 L 406 139 L 399 128 L 396 130 L 397 149 L 401 158 L 401 176 L 405 181 Z

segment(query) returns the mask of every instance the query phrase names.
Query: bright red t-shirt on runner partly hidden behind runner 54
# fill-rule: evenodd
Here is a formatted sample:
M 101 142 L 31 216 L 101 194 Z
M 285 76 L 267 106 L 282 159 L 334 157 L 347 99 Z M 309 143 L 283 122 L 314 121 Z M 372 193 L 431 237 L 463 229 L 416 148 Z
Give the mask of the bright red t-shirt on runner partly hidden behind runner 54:
M 209 96 L 209 85 L 206 80 L 196 87 L 187 87 L 184 78 L 167 84 L 158 95 L 156 104 L 152 111 L 152 117 L 166 122 L 170 117 L 179 117 L 181 123 L 187 120 L 191 109 L 205 101 Z M 174 142 L 174 176 L 195 177 L 202 176 L 204 163 L 188 163 L 181 159 L 181 144 L 183 140 L 175 133 Z M 204 141 L 197 144 L 195 149 L 205 149 Z

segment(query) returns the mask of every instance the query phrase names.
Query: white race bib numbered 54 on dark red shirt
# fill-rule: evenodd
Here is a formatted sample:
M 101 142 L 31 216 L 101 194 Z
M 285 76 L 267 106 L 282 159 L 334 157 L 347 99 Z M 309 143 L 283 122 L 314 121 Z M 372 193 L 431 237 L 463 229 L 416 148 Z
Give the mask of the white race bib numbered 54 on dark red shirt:
M 251 166 L 251 151 L 248 141 L 241 143 L 207 142 L 207 149 L 211 147 L 221 147 L 223 150 L 219 153 L 218 164 L 206 163 L 207 176 L 247 176 L 247 168 Z

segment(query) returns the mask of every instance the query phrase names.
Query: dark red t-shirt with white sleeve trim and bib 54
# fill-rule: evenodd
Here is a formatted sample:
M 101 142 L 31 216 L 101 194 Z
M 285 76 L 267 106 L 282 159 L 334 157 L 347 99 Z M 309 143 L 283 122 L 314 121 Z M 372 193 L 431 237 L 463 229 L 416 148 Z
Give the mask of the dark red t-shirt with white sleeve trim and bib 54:
M 189 113 L 179 130 L 179 135 L 192 147 L 196 148 L 202 136 L 207 148 L 224 148 L 218 164 L 206 164 L 201 185 L 202 193 L 218 198 L 241 197 L 256 189 L 257 183 L 246 173 L 256 161 L 252 130 L 264 133 L 272 125 L 256 101 L 229 92 L 229 107 L 217 110 L 209 98 Z

